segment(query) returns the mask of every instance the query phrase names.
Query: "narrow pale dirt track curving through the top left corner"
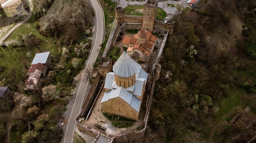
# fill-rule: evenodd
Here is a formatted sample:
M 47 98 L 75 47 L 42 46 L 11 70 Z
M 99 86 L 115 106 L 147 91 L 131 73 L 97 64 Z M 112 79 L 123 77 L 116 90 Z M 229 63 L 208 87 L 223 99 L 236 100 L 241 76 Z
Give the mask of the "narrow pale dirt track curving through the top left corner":
M 18 28 L 19 26 L 21 26 L 22 24 L 24 24 L 25 22 L 27 22 L 27 20 L 29 20 L 29 18 L 31 17 L 32 12 L 33 12 L 33 3 L 32 3 L 32 0 L 28 0 L 28 1 L 29 1 L 29 10 L 28 10 L 29 15 L 25 18 L 25 20 L 23 20 L 22 22 L 18 23 L 18 24 L 17 24 L 16 26 L 14 26 L 13 28 L 11 28 L 11 30 L 9 30 L 9 31 L 6 33 L 6 35 L 4 35 L 4 37 L 2 37 L 2 38 L 0 39 L 0 45 L 1 45 L 1 43 L 2 43 L 4 40 L 6 40 L 6 39 L 11 35 L 11 33 L 12 33 L 16 28 Z

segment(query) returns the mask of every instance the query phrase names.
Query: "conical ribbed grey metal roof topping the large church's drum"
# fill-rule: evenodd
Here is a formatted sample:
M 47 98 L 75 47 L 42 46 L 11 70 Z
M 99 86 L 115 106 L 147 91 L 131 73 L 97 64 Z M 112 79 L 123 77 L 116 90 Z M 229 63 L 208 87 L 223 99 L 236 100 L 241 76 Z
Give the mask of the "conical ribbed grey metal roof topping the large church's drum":
M 117 62 L 113 65 L 114 73 L 120 77 L 130 77 L 136 74 L 138 69 L 140 70 L 141 66 L 132 60 L 126 52 L 123 52 Z

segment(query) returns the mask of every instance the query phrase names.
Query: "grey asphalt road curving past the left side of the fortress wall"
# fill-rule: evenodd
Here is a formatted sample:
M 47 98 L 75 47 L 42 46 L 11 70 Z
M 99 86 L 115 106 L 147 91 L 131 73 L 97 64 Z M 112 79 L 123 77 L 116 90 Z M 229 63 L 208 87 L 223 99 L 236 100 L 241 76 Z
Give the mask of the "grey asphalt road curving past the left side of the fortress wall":
M 91 0 L 93 8 L 94 8 L 94 13 L 95 13 L 95 18 L 97 19 L 97 28 L 95 28 L 96 30 L 96 39 L 95 39 L 95 43 L 94 43 L 94 47 L 92 49 L 91 55 L 89 57 L 88 63 L 85 66 L 85 68 L 87 67 L 92 67 L 97 55 L 99 53 L 99 48 L 100 48 L 100 44 L 103 42 L 103 36 L 104 36 L 104 17 L 103 17 L 103 10 L 101 8 L 101 5 L 99 4 L 98 0 Z M 88 87 L 88 81 L 85 80 L 85 73 L 83 73 L 83 77 L 80 82 L 77 94 L 76 94 L 76 99 L 71 111 L 71 115 L 70 118 L 68 120 L 68 124 L 67 124 L 67 128 L 66 128 L 66 132 L 65 132 L 65 137 L 64 137 L 64 141 L 63 143 L 72 143 L 72 137 L 73 137 L 73 132 L 75 129 L 75 117 L 76 115 L 79 114 L 80 108 L 83 104 L 83 100 L 85 99 L 85 97 L 87 95 L 85 95 L 85 92 L 87 90 Z

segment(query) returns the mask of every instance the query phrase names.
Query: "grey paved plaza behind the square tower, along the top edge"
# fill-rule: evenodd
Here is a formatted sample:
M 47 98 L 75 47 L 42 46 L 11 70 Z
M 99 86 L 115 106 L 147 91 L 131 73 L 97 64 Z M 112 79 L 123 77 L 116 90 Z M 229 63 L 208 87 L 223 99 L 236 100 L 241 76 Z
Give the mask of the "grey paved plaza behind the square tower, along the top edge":
M 145 1 L 139 2 L 139 1 L 132 1 L 132 0 L 129 2 L 127 2 L 125 0 L 112 0 L 112 1 L 117 2 L 117 3 L 119 2 L 119 4 L 117 4 L 117 6 L 121 6 L 121 7 L 126 7 L 128 4 L 129 5 L 144 5 L 144 3 L 145 3 Z M 170 8 L 170 7 L 166 6 L 166 4 L 169 4 L 169 3 L 182 4 L 184 8 L 188 7 L 186 0 L 181 0 L 181 1 L 166 0 L 164 2 L 158 1 L 157 7 L 164 9 L 164 11 L 167 14 L 177 14 L 178 11 L 176 8 Z

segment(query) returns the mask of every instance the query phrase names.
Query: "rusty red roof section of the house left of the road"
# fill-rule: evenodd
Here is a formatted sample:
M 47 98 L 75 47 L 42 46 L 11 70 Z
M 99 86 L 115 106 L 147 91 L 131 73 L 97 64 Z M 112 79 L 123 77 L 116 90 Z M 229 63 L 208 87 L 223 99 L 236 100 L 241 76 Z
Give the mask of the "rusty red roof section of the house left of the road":
M 27 71 L 28 78 L 25 82 L 25 85 L 37 85 L 44 67 L 45 64 L 42 63 L 31 65 L 31 67 Z

